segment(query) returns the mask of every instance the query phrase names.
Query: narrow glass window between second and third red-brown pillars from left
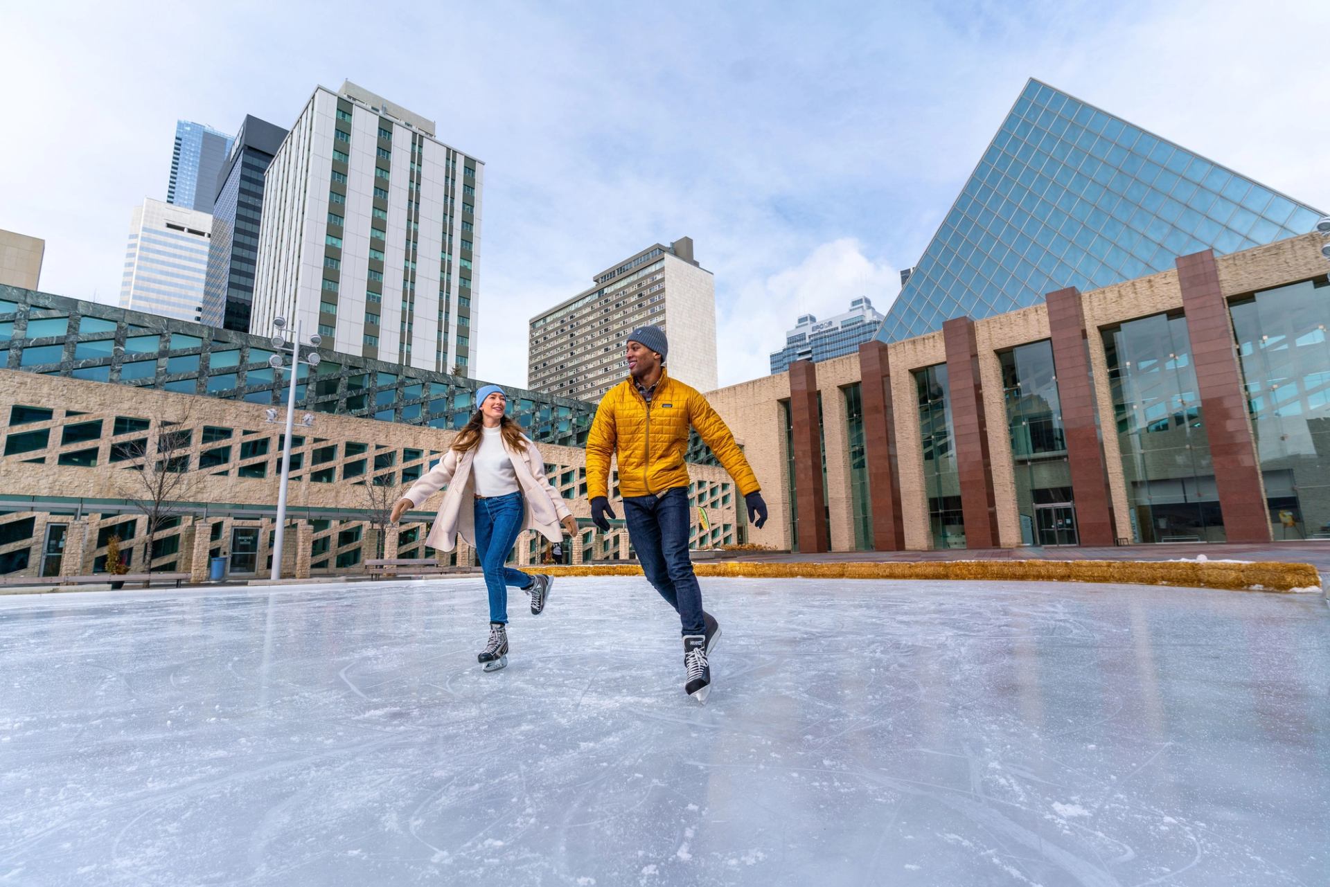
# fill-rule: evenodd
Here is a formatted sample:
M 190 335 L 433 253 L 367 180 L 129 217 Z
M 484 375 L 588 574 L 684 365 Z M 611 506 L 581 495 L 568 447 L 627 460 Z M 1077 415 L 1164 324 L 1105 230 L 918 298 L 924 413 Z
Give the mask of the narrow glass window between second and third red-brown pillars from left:
M 947 400 L 947 364 L 914 371 L 919 395 L 919 435 L 923 444 L 923 485 L 934 548 L 964 548 L 966 520 L 960 511 L 955 431 Z

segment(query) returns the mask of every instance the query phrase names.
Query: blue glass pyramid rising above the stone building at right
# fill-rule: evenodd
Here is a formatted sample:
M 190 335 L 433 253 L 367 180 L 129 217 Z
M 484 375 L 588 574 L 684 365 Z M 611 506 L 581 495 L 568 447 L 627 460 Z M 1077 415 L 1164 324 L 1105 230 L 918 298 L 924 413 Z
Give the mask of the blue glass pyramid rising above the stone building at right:
M 1315 229 L 1321 213 L 1031 80 L 887 313 L 895 342 L 1120 283 L 1204 249 Z

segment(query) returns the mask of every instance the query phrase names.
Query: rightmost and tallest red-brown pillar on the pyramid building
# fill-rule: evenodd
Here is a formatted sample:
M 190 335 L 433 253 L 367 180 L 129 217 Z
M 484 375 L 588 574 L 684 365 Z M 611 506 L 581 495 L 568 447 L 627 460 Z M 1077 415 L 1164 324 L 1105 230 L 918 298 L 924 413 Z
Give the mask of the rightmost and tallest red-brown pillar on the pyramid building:
M 1248 419 L 1229 303 L 1220 290 L 1214 253 L 1177 259 L 1186 335 L 1201 395 L 1201 415 L 1210 442 L 1214 484 L 1220 492 L 1224 533 L 1230 543 L 1270 541 L 1270 517 L 1261 485 L 1261 465 Z

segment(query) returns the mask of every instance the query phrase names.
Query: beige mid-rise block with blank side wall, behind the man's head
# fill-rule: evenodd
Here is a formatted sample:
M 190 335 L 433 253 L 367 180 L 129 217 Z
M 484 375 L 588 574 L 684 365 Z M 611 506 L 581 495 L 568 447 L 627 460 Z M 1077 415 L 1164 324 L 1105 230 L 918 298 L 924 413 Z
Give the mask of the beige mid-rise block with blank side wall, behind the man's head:
M 589 290 L 531 319 L 528 388 L 600 400 L 628 372 L 628 334 L 652 323 L 669 336 L 669 374 L 716 390 L 716 279 L 693 259 L 692 238 L 649 246 L 592 279 Z

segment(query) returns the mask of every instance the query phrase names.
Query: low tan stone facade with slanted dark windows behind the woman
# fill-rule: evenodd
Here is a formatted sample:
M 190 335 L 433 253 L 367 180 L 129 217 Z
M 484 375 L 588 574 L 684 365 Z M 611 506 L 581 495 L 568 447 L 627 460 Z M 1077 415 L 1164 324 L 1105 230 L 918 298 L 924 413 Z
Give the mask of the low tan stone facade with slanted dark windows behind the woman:
M 265 414 L 262 406 L 243 402 L 0 370 L 0 420 L 8 423 L 5 455 L 0 456 L 0 572 L 37 574 L 49 523 L 69 525 L 61 572 L 94 572 L 100 569 L 97 559 L 106 553 L 109 532 L 133 521 L 122 551 L 132 557 L 134 572 L 156 543 L 154 569 L 188 572 L 200 580 L 207 573 L 209 557 L 229 555 L 233 572 L 265 574 L 282 451 L 282 424 L 266 422 Z M 172 435 L 188 434 L 170 455 L 184 460 L 189 483 L 178 523 L 170 521 L 149 540 L 134 505 L 141 493 L 126 479 L 133 477 L 133 456 L 141 455 L 133 444 L 150 442 L 154 449 L 164 428 Z M 363 572 L 366 560 L 391 557 L 388 552 L 473 563 L 473 552 L 464 544 L 452 555 L 424 548 L 442 493 L 391 528 L 375 520 L 376 503 L 370 496 L 391 488 L 391 505 L 398 492 L 447 451 L 455 434 L 332 414 L 317 414 L 311 427 L 297 426 L 283 573 Z M 622 520 L 608 539 L 591 524 L 584 451 L 539 447 L 547 475 L 580 525 L 571 545 L 573 559 L 625 557 Z M 694 505 L 706 509 L 712 525 L 702 536 L 694 520 L 694 545 L 738 541 L 738 496 L 730 477 L 708 465 L 689 465 L 689 471 Z M 617 497 L 617 488 L 613 493 Z M 621 519 L 618 505 L 616 511 Z M 235 551 L 238 543 L 253 551 Z M 533 563 L 541 553 L 536 535 L 527 532 L 519 539 L 515 560 Z

